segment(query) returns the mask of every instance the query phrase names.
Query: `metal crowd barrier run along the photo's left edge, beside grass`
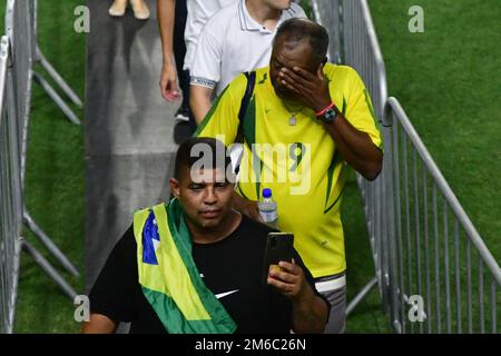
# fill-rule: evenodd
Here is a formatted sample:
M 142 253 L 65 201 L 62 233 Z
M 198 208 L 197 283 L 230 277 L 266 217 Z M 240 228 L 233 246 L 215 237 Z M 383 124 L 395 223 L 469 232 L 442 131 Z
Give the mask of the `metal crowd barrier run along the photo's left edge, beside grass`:
M 12 332 L 21 248 L 65 294 L 70 298 L 77 295 L 50 263 L 20 236 L 24 222 L 61 265 L 78 276 L 76 267 L 37 226 L 23 205 L 31 83 L 35 76 L 32 66 L 40 58 L 36 41 L 36 0 L 7 2 L 7 36 L 2 38 L 0 49 L 0 333 Z M 43 65 L 43 59 L 41 61 Z

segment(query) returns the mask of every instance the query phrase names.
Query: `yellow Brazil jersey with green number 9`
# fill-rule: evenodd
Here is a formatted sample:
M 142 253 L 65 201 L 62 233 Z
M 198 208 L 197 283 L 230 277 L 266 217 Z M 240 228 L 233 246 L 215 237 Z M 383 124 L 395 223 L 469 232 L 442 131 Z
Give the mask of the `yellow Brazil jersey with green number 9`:
M 344 117 L 382 146 L 371 99 L 350 67 L 327 63 L 331 98 Z M 218 97 L 195 135 L 230 146 L 238 132 L 238 112 L 247 79 L 238 76 Z M 294 118 L 293 118 L 294 117 Z M 345 270 L 340 206 L 346 162 L 312 109 L 284 103 L 269 81 L 269 68 L 256 70 L 254 95 L 242 123 L 245 138 L 237 192 L 258 200 L 271 188 L 278 227 L 292 231 L 295 248 L 314 277 Z

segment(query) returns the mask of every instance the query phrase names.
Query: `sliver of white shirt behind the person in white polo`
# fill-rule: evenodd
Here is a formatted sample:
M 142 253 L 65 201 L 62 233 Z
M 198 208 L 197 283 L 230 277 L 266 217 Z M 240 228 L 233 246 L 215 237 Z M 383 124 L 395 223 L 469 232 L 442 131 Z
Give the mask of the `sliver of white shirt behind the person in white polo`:
M 198 37 L 207 20 L 218 10 L 236 3 L 237 1 L 238 0 L 186 0 L 188 14 L 186 17 L 186 56 L 183 69 L 191 69 Z

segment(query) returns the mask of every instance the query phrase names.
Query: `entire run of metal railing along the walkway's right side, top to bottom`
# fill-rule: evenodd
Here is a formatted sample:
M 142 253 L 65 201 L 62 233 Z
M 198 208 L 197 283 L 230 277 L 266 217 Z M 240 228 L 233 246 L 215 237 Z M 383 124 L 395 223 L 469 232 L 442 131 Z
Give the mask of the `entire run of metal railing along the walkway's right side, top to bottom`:
M 316 20 L 334 36 L 333 43 L 341 43 L 330 48 L 330 58 L 338 56 L 361 75 L 384 140 L 380 177 L 370 182 L 357 176 L 376 278 L 348 305 L 347 314 L 379 281 L 384 310 L 396 333 L 483 333 L 487 320 L 488 329 L 495 333 L 499 265 L 405 112 L 396 99 L 387 98 L 385 66 L 367 1 L 312 0 L 312 8 Z M 415 300 L 423 301 L 418 319 L 424 320 L 418 324 L 409 319 L 409 313 L 420 307 Z

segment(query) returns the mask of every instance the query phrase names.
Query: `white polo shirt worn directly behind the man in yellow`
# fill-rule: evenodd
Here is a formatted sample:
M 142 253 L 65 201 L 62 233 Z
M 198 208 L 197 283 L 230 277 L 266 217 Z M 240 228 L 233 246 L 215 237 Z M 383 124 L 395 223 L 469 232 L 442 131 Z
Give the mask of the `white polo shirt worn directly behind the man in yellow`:
M 292 2 L 271 31 L 250 17 L 245 0 L 219 10 L 198 39 L 190 83 L 210 89 L 217 85 L 216 95 L 219 95 L 239 73 L 267 66 L 276 29 L 291 18 L 306 18 L 306 14 Z

